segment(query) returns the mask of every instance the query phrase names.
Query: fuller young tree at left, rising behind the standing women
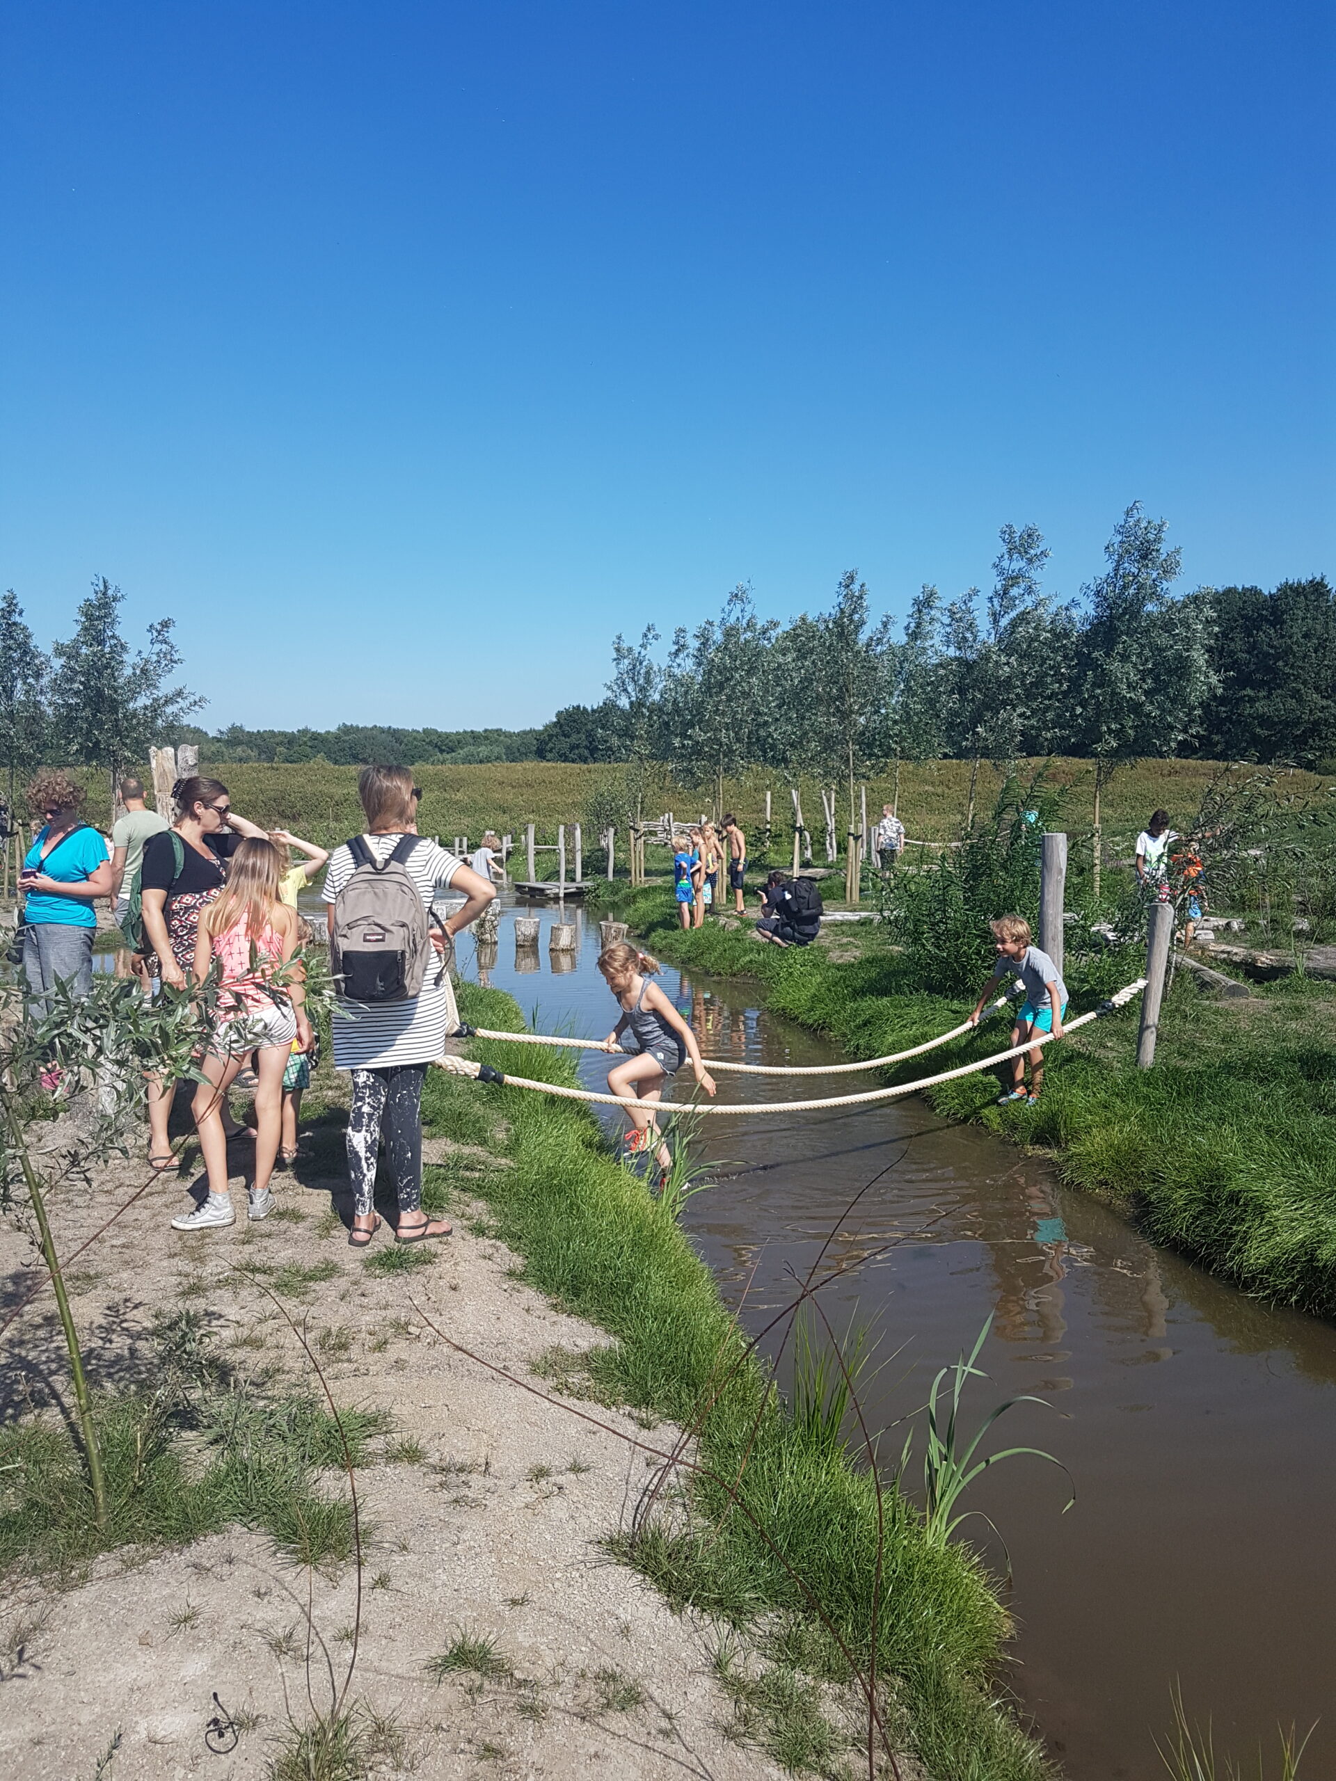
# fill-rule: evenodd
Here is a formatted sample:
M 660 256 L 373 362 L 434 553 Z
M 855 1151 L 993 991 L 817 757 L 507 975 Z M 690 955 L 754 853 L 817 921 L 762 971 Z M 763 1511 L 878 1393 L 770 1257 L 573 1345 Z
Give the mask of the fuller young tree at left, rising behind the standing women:
M 112 810 L 121 773 L 148 759 L 162 730 L 205 703 L 183 686 L 167 684 L 182 664 L 169 618 L 151 623 L 148 648 L 130 655 L 121 636 L 123 600 L 105 575 L 94 577 L 93 593 L 78 606 L 73 638 L 52 648 L 57 736 L 73 760 L 109 775 Z

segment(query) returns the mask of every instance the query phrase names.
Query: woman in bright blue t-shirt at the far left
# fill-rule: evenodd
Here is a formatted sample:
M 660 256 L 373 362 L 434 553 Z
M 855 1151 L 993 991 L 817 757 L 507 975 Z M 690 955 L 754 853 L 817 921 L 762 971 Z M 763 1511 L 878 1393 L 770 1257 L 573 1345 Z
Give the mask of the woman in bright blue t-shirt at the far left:
M 80 817 L 84 793 L 64 773 L 39 773 L 29 785 L 34 816 L 45 819 L 23 857 L 23 972 L 34 1012 L 48 1013 L 57 983 L 75 996 L 93 987 L 93 899 L 110 896 L 107 841 Z

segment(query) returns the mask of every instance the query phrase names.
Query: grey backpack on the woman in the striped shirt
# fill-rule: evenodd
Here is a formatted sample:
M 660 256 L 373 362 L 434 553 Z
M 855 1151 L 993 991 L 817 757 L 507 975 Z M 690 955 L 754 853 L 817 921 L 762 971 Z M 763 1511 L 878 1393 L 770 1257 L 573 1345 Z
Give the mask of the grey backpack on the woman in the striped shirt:
M 353 835 L 353 876 L 335 898 L 330 969 L 346 1001 L 408 1001 L 420 994 L 431 964 L 431 931 L 422 892 L 408 860 L 422 835 L 401 835 L 381 864 L 365 842 Z M 436 983 L 445 974 L 442 960 Z

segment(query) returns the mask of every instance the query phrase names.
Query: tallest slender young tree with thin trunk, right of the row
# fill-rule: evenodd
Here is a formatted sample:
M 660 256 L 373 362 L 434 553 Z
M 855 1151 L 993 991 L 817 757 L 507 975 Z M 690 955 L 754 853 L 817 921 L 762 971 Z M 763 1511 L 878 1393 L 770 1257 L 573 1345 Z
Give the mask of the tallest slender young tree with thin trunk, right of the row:
M 1165 549 L 1167 520 L 1135 500 L 1104 545 L 1108 568 L 1081 590 L 1088 616 L 1074 677 L 1081 752 L 1096 760 L 1094 894 L 1101 874 L 1101 800 L 1113 773 L 1140 755 L 1172 755 L 1215 687 L 1213 593 L 1170 597 L 1181 550 Z

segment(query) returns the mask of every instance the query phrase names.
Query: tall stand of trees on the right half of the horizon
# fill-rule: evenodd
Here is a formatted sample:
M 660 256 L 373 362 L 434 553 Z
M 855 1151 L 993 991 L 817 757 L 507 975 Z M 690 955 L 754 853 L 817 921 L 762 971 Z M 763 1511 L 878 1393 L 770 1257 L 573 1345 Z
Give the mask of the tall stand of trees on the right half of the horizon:
M 1044 588 L 1035 525 L 1005 525 L 987 590 L 925 586 L 903 627 L 857 572 L 787 625 L 736 588 L 663 645 L 618 636 L 600 705 L 538 732 L 549 760 L 661 760 L 686 784 L 748 766 L 839 782 L 894 759 L 1145 755 L 1336 769 L 1336 591 L 1324 575 L 1177 591 L 1167 524 L 1138 504 L 1074 598 Z

